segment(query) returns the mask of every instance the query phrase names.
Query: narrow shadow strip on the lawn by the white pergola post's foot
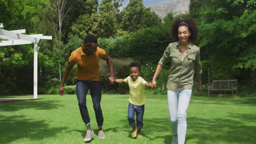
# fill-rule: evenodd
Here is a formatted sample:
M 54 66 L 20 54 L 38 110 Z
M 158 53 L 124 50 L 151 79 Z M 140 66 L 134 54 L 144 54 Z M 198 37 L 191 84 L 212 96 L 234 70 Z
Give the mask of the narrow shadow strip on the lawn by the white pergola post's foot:
M 15 103 L 0 103 L 0 111 L 17 111 L 21 109 L 51 110 L 59 106 L 59 100 L 16 101 Z

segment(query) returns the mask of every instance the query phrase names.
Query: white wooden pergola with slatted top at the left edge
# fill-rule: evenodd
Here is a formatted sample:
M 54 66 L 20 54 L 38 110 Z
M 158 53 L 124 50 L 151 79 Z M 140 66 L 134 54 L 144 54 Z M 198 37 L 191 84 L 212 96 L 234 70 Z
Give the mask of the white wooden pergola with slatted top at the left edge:
M 0 28 L 3 27 L 0 23 Z M 34 44 L 34 99 L 37 99 L 37 64 L 38 64 L 38 50 L 37 46 L 39 40 L 41 39 L 53 39 L 51 36 L 45 36 L 43 34 L 32 34 L 26 35 L 26 29 L 19 29 L 15 31 L 7 31 L 5 29 L 0 29 L 0 39 L 5 39 L 0 42 L 0 46 L 11 46 L 11 45 L 24 45 L 24 44 Z

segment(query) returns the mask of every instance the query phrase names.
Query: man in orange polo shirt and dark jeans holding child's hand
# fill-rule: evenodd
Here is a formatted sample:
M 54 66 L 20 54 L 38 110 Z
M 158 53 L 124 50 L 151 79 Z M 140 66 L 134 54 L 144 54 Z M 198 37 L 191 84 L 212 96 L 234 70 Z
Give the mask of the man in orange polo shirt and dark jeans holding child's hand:
M 96 121 L 98 124 L 98 136 L 101 139 L 105 138 L 105 134 L 102 130 L 103 126 L 103 115 L 101 110 L 101 82 L 98 75 L 98 61 L 100 58 L 107 61 L 108 67 L 110 69 L 109 79 L 114 79 L 113 64 L 110 56 L 100 47 L 98 47 L 97 38 L 95 35 L 88 34 L 84 39 L 84 44 L 77 50 L 71 53 L 68 59 L 68 65 L 63 74 L 61 86 L 59 89 L 60 95 L 64 94 L 64 83 L 72 70 L 75 63 L 78 65 L 78 80 L 77 80 L 77 99 L 80 109 L 81 116 L 87 127 L 86 136 L 84 141 L 90 141 L 94 130 L 92 130 L 90 124 L 90 117 L 88 109 L 86 107 L 86 95 L 88 89 L 90 89 L 92 103 L 94 105 L 94 111 L 96 116 Z

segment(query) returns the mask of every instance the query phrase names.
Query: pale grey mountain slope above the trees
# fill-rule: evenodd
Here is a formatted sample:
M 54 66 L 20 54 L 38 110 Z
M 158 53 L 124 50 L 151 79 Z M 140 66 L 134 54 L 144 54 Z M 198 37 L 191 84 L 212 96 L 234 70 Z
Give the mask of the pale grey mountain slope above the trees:
M 174 15 L 184 14 L 189 11 L 190 0 L 169 0 L 152 5 L 148 5 L 152 11 L 164 19 L 166 13 L 172 10 Z

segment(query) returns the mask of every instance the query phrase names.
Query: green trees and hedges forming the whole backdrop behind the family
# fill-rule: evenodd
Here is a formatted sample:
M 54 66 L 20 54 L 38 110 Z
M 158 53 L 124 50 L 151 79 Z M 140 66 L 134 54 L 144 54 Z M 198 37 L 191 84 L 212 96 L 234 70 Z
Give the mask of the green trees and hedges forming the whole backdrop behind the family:
M 99 46 L 116 59 L 115 76 L 122 79 L 129 75 L 124 65 L 133 61 L 123 58 L 132 58 L 142 63 L 141 75 L 150 81 L 162 53 L 169 43 L 174 42 L 170 37 L 170 26 L 174 20 L 172 12 L 167 13 L 162 24 L 159 17 L 145 8 L 141 0 L 130 1 L 121 13 L 119 0 L 102 1 L 99 9 L 96 0 L 75 1 L 59 34 L 58 1 L 0 0 L 0 23 L 4 23 L 4 29 L 26 29 L 26 34 L 53 35 L 53 40 L 40 40 L 39 43 L 39 93 L 59 93 L 60 83 L 53 80 L 60 79 L 59 70 L 63 74 L 70 53 L 83 44 L 86 34 L 97 35 Z M 201 51 L 203 84 L 208 83 L 209 67 L 210 81 L 238 79 L 241 85 L 255 89 L 255 7 L 256 2 L 253 0 L 191 0 L 190 14 L 176 16 L 182 19 L 192 17 L 199 26 L 200 41 L 197 45 Z M 9 61 L 3 61 L 3 58 L 9 58 Z M 109 70 L 106 62 L 103 63 L 104 70 L 100 75 L 104 91 L 127 93 L 127 85 L 109 84 Z M 147 63 L 152 69 L 148 69 Z M 162 93 L 161 83 L 166 82 L 168 73 L 167 64 L 157 80 L 159 89 L 147 91 Z M 74 85 L 76 79 L 77 69 L 74 68 L 66 84 Z M 0 94 L 33 92 L 32 45 L 1 47 L 0 89 Z M 205 89 L 206 86 L 203 86 L 203 92 Z M 243 94 L 252 95 L 251 90 L 247 94 L 245 87 L 241 86 L 241 89 L 245 89 Z

